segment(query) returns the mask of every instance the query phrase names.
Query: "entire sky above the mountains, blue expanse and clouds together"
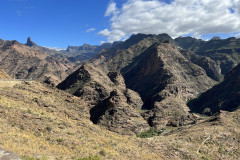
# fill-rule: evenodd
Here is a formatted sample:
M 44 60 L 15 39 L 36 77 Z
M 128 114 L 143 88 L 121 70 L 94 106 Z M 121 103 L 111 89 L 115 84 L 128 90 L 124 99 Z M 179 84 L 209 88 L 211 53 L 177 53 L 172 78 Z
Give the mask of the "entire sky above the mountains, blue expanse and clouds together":
M 66 48 L 135 33 L 210 39 L 240 33 L 240 0 L 1 0 L 0 38 Z

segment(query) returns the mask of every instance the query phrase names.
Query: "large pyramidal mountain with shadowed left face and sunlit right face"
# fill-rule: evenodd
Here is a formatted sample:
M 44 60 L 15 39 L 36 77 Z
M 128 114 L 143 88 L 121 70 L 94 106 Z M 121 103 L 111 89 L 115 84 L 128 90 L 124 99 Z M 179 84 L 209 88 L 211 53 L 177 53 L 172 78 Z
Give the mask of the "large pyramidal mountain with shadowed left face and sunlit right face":
M 171 96 L 189 100 L 213 86 L 205 70 L 186 59 L 172 44 L 155 44 L 138 58 L 123 76 L 127 87 L 144 100 L 160 101 Z

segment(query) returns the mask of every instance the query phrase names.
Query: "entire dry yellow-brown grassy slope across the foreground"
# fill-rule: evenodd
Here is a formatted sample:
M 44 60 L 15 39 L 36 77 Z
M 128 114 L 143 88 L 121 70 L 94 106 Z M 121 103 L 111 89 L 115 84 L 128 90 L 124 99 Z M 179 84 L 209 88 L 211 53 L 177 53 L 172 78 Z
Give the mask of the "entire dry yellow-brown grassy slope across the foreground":
M 140 139 L 94 125 L 88 103 L 31 82 L 0 88 L 0 148 L 23 159 L 238 159 L 240 111 Z M 25 157 L 25 158 L 24 158 Z

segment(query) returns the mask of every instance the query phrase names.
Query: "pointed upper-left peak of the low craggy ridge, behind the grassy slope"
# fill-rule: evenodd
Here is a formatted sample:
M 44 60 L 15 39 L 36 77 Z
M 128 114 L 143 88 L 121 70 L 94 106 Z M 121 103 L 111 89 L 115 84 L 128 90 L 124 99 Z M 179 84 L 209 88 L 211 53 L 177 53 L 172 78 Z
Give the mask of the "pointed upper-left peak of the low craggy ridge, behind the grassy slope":
M 91 108 L 106 99 L 113 86 L 106 73 L 93 65 L 84 64 L 57 87 L 82 98 Z

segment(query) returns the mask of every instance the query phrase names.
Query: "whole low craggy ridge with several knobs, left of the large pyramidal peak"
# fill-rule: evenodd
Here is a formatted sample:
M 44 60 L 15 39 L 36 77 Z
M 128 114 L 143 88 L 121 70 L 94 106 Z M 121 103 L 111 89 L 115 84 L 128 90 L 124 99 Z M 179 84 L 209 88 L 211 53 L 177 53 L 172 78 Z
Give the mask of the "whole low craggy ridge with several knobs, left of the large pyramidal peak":
M 128 135 L 149 129 L 139 113 L 143 104 L 141 98 L 126 88 L 118 72 L 106 74 L 85 63 L 57 87 L 87 102 L 95 124 Z

